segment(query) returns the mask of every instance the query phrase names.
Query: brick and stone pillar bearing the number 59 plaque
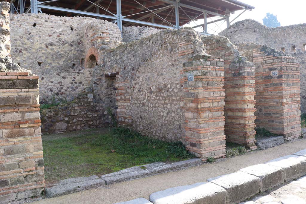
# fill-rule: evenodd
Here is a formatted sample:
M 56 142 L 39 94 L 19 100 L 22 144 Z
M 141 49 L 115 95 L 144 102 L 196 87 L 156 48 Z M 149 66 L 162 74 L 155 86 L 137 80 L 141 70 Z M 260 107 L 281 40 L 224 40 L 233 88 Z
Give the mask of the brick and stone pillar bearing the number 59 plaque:
M 300 69 L 294 57 L 275 56 L 262 46 L 253 50 L 256 63 L 256 126 L 283 135 L 301 135 Z

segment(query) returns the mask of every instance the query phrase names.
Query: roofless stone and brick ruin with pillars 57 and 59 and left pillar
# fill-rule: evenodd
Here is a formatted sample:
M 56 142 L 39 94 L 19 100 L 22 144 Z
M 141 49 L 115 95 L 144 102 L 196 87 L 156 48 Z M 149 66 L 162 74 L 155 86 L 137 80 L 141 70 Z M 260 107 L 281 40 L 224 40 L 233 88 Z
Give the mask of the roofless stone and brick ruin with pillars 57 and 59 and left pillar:
M 39 126 L 106 127 L 109 110 L 119 125 L 180 140 L 203 161 L 224 157 L 226 141 L 255 150 L 256 126 L 287 141 L 301 135 L 299 63 L 280 51 L 190 28 L 126 27 L 125 43 L 115 24 L 88 17 L 13 14 L 9 26 L 9 4 L 1 7 L 1 201 L 43 190 Z M 40 120 L 39 98 L 62 104 Z

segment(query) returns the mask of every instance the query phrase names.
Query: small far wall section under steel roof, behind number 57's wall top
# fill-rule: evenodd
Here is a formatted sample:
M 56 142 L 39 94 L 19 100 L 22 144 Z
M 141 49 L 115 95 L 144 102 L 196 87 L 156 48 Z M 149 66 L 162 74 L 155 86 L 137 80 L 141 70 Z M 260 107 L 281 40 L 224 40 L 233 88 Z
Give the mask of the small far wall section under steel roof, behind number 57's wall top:
M 124 43 L 130 43 L 149 35 L 162 31 L 161 29 L 149 28 L 145 26 L 129 26 L 122 29 L 122 40 Z

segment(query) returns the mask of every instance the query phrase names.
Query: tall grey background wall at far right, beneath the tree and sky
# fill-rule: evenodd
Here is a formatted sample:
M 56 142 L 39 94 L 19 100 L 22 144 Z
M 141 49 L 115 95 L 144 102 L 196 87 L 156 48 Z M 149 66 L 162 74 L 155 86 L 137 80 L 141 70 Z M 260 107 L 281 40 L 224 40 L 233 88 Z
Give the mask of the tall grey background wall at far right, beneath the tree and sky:
M 251 19 L 239 21 L 219 35 L 226 36 L 236 43 L 266 44 L 281 50 L 300 63 L 301 112 L 306 113 L 306 24 L 267 28 Z

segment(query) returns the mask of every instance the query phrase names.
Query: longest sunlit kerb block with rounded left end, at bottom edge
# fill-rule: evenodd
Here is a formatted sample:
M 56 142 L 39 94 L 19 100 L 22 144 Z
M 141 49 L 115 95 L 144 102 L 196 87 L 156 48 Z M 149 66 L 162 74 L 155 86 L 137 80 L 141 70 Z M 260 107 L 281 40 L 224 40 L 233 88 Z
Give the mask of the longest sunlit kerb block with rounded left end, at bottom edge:
M 226 190 L 210 182 L 196 183 L 152 193 L 150 201 L 154 204 L 225 204 Z

